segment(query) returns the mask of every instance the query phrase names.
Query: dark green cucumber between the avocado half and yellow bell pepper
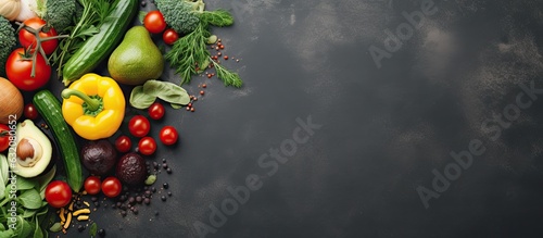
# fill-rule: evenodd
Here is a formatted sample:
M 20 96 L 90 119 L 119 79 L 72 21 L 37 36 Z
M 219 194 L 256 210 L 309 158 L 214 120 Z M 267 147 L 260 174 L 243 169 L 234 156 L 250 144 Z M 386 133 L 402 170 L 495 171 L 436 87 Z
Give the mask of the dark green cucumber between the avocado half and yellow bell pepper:
M 77 150 L 74 135 L 62 116 L 59 99 L 48 89 L 43 89 L 34 95 L 33 102 L 41 117 L 49 124 L 49 128 L 53 131 L 53 137 L 64 161 L 64 170 L 66 171 L 70 187 L 75 192 L 79 192 L 83 186 L 79 151 Z

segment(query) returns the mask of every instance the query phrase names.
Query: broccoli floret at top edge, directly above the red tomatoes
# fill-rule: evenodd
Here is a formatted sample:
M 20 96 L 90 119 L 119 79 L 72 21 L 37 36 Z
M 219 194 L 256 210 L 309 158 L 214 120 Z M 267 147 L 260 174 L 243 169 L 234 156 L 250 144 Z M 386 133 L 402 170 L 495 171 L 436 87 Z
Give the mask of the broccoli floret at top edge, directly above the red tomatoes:
M 38 0 L 36 13 L 60 34 L 73 23 L 76 13 L 75 1 L 76 0 Z

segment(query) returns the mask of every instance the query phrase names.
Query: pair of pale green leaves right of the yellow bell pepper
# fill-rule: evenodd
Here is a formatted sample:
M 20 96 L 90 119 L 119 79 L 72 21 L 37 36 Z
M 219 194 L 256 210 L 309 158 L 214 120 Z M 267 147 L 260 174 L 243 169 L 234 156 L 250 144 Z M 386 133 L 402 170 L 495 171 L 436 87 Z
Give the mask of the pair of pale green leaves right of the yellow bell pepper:
M 173 83 L 161 80 L 147 80 L 143 85 L 134 87 L 129 101 L 136 109 L 147 109 L 156 98 L 180 105 L 186 105 L 190 102 L 187 90 Z M 176 107 L 173 105 L 173 108 L 175 109 Z

